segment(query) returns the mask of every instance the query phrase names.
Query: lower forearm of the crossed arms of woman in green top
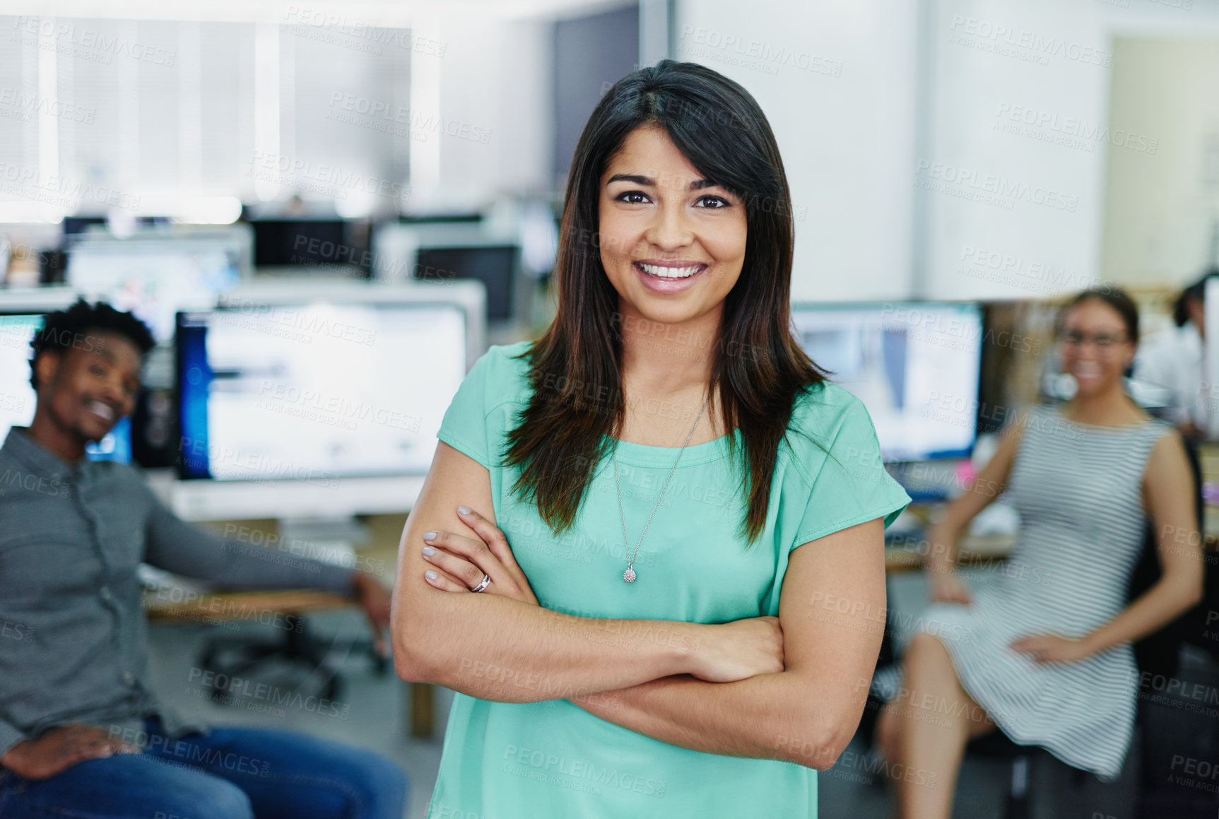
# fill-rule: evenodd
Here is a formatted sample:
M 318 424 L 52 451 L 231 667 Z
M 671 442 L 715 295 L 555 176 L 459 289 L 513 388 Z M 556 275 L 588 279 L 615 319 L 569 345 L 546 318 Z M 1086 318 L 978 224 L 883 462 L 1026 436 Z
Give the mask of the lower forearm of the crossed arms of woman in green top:
M 829 698 L 811 696 L 812 690 L 807 676 L 791 672 L 739 682 L 683 675 L 572 702 L 606 722 L 683 748 L 825 769 L 853 734 L 863 697 L 851 720 L 850 704 L 836 707 Z

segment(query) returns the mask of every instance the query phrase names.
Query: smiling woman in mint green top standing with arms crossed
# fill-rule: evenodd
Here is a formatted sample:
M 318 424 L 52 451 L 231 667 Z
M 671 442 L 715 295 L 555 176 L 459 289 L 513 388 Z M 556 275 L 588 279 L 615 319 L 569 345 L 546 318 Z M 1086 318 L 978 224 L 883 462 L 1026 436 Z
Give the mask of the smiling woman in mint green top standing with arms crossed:
M 471 370 L 402 534 L 399 674 L 457 691 L 430 817 L 816 817 L 908 498 L 792 338 L 792 234 L 740 85 L 601 99 L 555 322 Z

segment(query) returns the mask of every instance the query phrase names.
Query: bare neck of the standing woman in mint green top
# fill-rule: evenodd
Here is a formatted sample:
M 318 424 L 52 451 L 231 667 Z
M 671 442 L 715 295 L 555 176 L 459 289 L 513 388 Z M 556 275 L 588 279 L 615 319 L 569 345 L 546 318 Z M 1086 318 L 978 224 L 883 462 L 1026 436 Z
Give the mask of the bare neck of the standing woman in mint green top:
M 661 323 L 620 305 L 623 389 L 640 396 L 678 395 L 711 381 L 723 306 L 688 322 Z

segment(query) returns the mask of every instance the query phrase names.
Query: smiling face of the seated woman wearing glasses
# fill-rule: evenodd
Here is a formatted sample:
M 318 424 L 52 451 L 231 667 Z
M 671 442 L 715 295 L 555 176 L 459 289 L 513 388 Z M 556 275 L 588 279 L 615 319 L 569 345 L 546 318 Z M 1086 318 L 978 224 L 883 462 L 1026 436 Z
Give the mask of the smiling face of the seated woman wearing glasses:
M 1100 299 L 1085 299 L 1063 321 L 1063 372 L 1075 378 L 1076 395 L 1098 395 L 1118 386 L 1135 357 L 1121 313 Z M 1119 388 L 1120 389 L 1120 388 Z

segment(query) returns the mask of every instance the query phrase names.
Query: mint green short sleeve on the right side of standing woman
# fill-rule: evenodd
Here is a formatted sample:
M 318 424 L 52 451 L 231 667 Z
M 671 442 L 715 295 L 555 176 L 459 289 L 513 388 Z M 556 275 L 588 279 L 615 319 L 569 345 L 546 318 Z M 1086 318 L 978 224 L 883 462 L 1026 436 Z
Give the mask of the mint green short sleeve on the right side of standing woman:
M 792 548 L 875 518 L 887 526 L 911 502 L 885 470 L 863 402 L 834 385 L 819 392 L 824 400 L 814 400 L 807 411 L 812 440 L 797 451 L 809 467 L 812 490 Z

